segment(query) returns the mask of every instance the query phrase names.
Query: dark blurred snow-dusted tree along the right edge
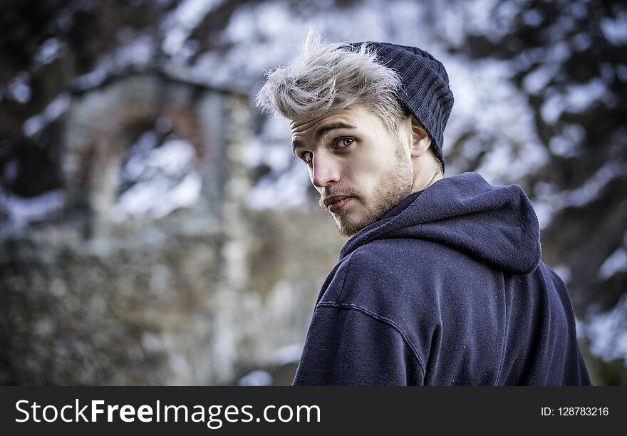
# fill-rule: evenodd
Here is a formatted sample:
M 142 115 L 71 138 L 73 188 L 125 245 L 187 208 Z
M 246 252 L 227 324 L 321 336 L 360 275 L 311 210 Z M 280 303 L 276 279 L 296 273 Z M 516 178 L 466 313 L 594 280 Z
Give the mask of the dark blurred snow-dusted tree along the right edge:
M 529 177 L 552 217 L 544 259 L 569 269 L 579 313 L 593 301 L 612 308 L 627 291 L 627 271 L 600 272 L 627 239 L 627 4 L 501 0 L 489 17 L 489 29 L 465 23 L 451 51 L 512 67 L 549 151 Z

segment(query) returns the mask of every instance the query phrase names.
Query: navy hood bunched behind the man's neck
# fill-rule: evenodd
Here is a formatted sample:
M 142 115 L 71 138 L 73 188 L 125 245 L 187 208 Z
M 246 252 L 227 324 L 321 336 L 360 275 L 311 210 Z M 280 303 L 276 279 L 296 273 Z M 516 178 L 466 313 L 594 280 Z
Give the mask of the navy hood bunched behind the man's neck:
M 414 192 L 346 242 L 340 259 L 375 239 L 426 239 L 514 274 L 541 259 L 538 218 L 517 185 L 495 187 L 476 172 L 446 177 Z

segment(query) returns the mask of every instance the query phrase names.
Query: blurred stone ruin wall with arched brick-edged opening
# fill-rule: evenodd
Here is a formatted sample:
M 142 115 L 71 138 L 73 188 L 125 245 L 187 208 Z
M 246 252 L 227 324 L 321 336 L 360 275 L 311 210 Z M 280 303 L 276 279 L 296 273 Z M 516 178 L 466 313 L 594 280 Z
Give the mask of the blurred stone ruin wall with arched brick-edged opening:
M 130 73 L 67 105 L 63 187 L 0 240 L 0 383 L 230 384 L 281 365 L 289 383 L 332 267 L 303 246 L 333 261 L 340 242 L 321 212 L 246 208 L 248 97 Z

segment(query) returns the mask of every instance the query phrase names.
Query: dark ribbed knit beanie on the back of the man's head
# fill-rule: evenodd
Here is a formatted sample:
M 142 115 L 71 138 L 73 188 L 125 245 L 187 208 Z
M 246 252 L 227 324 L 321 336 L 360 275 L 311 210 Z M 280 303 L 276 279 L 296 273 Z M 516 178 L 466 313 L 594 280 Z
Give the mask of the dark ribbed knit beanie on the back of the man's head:
M 359 48 L 361 44 L 350 45 Z M 443 166 L 444 128 L 453 107 L 453 93 L 444 66 L 420 48 L 372 41 L 367 44 L 375 48 L 382 65 L 398 72 L 401 85 L 397 97 L 423 125 Z

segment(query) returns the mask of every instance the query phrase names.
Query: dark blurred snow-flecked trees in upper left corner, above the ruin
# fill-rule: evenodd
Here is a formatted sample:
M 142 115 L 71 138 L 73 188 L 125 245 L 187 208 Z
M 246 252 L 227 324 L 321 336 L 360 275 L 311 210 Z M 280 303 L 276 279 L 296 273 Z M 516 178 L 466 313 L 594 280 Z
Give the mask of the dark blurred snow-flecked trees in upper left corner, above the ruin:
M 129 71 L 188 66 L 248 2 L 0 0 L 0 194 L 61 187 L 68 95 Z

